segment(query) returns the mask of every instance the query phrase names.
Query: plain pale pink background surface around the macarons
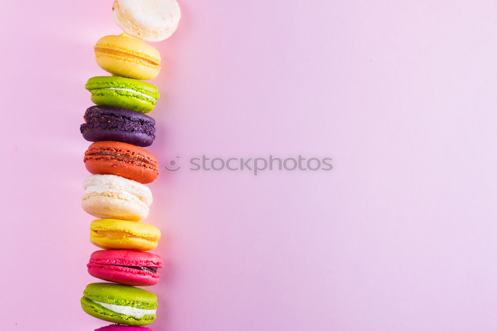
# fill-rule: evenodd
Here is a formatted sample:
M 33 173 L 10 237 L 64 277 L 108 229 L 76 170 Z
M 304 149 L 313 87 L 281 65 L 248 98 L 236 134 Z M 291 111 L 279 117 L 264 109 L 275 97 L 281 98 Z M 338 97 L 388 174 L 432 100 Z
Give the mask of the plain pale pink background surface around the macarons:
M 194 1 L 150 150 L 331 156 L 162 172 L 156 331 L 497 329 L 495 1 Z M 111 0 L 2 4 L 2 330 L 84 330 L 79 133 Z

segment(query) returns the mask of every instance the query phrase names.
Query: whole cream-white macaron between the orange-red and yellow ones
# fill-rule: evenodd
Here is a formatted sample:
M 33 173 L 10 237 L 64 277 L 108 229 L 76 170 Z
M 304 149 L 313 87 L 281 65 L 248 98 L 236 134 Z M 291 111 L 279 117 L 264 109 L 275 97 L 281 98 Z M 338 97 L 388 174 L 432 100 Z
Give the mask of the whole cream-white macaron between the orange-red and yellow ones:
M 83 189 L 83 210 L 100 218 L 140 221 L 149 215 L 153 201 L 148 187 L 115 175 L 88 176 Z

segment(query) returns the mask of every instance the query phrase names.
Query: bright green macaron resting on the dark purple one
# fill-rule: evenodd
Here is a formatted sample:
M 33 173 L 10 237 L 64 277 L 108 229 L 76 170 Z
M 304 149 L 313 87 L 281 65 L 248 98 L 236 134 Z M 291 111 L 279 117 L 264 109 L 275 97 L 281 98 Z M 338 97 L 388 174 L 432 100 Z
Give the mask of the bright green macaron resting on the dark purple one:
M 84 88 L 90 91 L 91 101 L 99 106 L 131 109 L 140 113 L 151 112 L 159 99 L 159 90 L 154 85 L 125 77 L 92 77 Z

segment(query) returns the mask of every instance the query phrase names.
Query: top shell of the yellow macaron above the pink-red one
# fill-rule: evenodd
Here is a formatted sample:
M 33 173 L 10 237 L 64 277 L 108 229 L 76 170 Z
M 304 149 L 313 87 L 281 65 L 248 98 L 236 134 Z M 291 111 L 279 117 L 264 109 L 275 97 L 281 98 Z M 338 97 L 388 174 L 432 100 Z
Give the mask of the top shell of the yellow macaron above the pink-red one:
M 123 234 L 154 242 L 159 241 L 161 238 L 161 231 L 157 227 L 146 223 L 112 218 L 95 219 L 90 223 L 90 236 L 106 236 L 110 239 L 116 238 L 119 240 Z

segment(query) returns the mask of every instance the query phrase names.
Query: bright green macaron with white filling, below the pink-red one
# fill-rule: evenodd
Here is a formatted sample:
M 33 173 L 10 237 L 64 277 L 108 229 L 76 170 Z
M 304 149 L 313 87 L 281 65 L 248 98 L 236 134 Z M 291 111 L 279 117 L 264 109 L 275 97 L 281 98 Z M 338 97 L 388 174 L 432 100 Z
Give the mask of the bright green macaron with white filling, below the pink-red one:
M 100 320 L 131 326 L 149 325 L 156 319 L 157 296 L 128 285 L 91 283 L 83 291 L 81 307 Z

